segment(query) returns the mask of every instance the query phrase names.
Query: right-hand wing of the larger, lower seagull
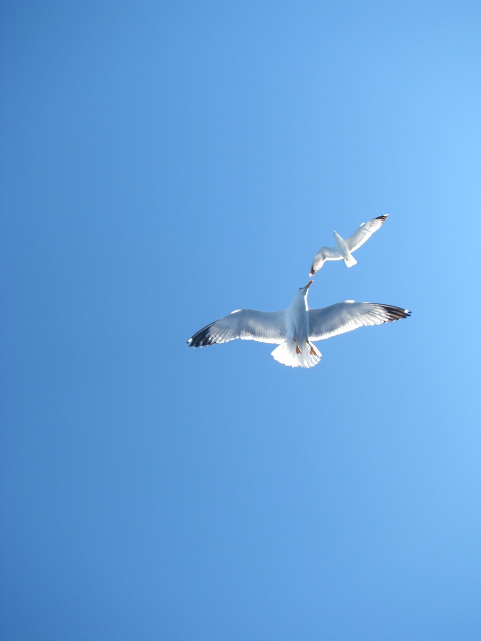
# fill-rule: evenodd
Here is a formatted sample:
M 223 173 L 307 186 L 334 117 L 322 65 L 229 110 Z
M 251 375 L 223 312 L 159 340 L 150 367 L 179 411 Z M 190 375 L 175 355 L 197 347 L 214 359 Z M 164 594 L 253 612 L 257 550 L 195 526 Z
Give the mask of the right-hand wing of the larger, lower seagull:
M 309 310 L 309 340 L 323 340 L 363 325 L 380 325 L 405 319 L 409 310 L 379 303 L 344 301 L 320 310 Z

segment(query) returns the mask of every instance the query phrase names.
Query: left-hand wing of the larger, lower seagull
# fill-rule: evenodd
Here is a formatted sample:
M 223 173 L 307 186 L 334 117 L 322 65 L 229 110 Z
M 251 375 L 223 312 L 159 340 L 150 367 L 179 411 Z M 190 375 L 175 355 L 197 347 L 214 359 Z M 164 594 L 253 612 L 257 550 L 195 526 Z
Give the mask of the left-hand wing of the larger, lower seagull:
M 235 338 L 257 340 L 260 343 L 280 344 L 285 340 L 285 312 L 235 310 L 228 316 L 200 329 L 187 343 L 190 347 L 205 347 L 227 343 Z

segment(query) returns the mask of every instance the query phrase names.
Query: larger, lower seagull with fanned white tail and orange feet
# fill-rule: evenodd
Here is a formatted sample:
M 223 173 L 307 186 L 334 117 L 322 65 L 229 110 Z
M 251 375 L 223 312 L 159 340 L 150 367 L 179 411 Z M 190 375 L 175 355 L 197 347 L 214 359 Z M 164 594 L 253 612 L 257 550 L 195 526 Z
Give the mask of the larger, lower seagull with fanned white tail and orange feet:
M 276 343 L 271 354 L 279 363 L 291 367 L 314 367 L 321 352 L 312 342 L 343 334 L 363 325 L 380 325 L 410 316 L 408 310 L 377 303 L 344 301 L 319 310 L 307 306 L 307 294 L 312 280 L 300 287 L 291 304 L 281 312 L 235 310 L 198 331 L 187 344 L 205 347 L 226 343 L 235 338 Z

